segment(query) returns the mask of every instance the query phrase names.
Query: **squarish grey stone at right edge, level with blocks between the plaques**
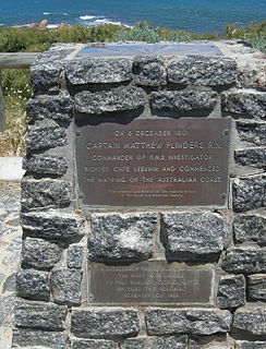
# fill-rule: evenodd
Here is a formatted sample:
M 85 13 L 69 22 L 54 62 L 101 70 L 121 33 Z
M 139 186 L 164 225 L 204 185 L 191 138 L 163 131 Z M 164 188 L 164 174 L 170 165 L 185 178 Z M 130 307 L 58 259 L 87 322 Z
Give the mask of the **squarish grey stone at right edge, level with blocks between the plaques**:
M 233 219 L 233 231 L 237 242 L 266 244 L 266 218 L 259 215 L 238 215 Z

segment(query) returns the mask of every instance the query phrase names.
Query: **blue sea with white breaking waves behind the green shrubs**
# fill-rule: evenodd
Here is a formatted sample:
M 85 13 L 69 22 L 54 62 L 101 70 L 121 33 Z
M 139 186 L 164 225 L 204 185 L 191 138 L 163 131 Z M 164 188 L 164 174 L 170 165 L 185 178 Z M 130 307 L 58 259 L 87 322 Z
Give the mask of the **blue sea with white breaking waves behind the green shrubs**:
M 265 21 L 266 0 L 0 0 L 1 26 L 44 19 L 50 26 L 108 22 L 132 26 L 148 21 L 172 29 L 221 33 L 228 23 Z

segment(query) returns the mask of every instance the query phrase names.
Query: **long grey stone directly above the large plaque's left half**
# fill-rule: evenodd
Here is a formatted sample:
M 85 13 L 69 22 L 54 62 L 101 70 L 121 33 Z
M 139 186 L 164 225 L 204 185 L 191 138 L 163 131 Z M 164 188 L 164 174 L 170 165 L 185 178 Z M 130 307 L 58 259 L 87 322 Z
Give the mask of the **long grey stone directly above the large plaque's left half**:
M 144 91 L 134 86 L 96 93 L 83 91 L 75 95 L 75 108 L 92 115 L 140 111 L 145 106 L 145 98 Z

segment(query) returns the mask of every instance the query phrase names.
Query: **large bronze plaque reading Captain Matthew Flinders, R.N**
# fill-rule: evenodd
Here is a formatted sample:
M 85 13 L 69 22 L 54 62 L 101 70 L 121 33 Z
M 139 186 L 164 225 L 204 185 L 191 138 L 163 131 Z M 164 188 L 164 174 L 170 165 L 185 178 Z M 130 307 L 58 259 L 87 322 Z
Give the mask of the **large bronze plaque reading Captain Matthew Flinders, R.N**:
M 226 205 L 230 119 L 87 123 L 76 134 L 83 205 Z

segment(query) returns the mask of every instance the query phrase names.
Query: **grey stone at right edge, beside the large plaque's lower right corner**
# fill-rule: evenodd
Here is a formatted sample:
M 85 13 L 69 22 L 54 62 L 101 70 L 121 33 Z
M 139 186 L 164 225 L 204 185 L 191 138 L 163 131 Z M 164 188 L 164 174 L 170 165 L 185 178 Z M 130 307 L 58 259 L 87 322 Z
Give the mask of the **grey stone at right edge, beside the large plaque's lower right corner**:
M 232 184 L 232 196 L 235 212 L 265 207 L 266 176 L 235 179 Z

